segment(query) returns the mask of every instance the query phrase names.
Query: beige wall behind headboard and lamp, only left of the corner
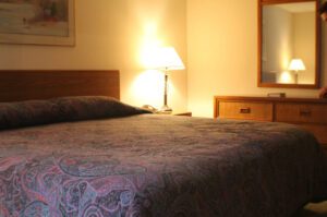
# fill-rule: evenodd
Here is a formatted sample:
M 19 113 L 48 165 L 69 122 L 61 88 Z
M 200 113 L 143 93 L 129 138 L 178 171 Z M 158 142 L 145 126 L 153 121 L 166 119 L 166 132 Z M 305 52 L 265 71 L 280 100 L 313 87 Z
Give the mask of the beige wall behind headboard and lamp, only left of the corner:
M 0 68 L 118 69 L 123 101 L 160 106 L 161 92 L 156 92 L 162 87 L 158 81 L 162 76 L 144 75 L 141 53 L 147 44 L 161 41 L 162 46 L 175 47 L 186 61 L 185 1 L 75 0 L 75 47 L 0 45 Z M 145 77 L 147 84 L 140 85 L 140 76 Z M 172 73 L 171 82 L 170 106 L 177 111 L 185 110 L 185 71 Z M 150 85 L 154 83 L 160 86 Z

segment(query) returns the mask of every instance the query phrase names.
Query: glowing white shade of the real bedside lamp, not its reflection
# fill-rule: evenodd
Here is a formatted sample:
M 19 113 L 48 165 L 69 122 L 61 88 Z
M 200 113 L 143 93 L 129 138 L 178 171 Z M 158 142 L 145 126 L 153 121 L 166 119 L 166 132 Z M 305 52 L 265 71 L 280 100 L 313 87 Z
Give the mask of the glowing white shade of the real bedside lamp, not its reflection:
M 158 70 L 184 70 L 185 67 L 173 47 L 162 47 L 158 50 L 154 68 Z

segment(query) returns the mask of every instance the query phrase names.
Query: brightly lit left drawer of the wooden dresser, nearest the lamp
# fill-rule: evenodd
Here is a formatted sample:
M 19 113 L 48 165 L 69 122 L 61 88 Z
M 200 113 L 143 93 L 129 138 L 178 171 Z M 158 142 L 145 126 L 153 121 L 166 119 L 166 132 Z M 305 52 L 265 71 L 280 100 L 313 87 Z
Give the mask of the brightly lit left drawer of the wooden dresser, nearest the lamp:
M 272 121 L 272 104 L 219 101 L 218 116 L 227 119 Z

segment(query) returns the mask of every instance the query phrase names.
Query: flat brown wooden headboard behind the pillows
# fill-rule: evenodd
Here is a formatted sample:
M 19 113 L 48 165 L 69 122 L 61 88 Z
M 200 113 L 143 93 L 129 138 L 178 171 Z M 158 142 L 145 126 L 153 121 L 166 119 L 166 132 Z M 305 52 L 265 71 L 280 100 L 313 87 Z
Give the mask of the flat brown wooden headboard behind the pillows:
M 62 96 L 111 96 L 120 99 L 119 71 L 0 70 L 0 101 Z

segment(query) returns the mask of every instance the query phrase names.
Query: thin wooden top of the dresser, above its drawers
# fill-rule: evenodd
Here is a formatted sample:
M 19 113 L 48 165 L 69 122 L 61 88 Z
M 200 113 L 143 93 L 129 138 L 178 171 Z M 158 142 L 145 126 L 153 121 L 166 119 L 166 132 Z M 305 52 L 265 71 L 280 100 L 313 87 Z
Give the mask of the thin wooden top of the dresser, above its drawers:
M 229 101 L 280 101 L 280 103 L 311 103 L 311 104 L 327 104 L 327 98 L 289 98 L 289 97 L 253 97 L 253 96 L 215 96 L 215 100 Z

